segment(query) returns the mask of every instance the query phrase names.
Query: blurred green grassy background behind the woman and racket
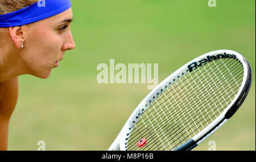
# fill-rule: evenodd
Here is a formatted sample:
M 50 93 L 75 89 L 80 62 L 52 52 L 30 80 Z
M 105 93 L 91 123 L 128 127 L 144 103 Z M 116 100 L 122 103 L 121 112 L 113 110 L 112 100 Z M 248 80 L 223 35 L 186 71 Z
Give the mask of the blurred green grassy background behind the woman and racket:
M 99 63 L 158 63 L 159 83 L 217 49 L 245 56 L 255 76 L 255 1 L 73 0 L 73 38 L 48 79 L 19 77 L 9 150 L 107 150 L 148 84 L 98 84 Z M 238 112 L 195 150 L 255 150 L 255 79 Z

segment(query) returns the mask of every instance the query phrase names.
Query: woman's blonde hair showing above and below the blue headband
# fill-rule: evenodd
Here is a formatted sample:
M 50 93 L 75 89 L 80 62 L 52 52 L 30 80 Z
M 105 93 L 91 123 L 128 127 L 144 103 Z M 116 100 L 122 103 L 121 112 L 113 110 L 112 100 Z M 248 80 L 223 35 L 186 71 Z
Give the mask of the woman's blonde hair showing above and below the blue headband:
M 0 0 L 0 15 L 17 11 L 35 2 L 38 2 L 38 0 Z M 10 40 L 8 28 L 0 28 L 0 67 L 5 61 L 5 53 L 9 50 Z

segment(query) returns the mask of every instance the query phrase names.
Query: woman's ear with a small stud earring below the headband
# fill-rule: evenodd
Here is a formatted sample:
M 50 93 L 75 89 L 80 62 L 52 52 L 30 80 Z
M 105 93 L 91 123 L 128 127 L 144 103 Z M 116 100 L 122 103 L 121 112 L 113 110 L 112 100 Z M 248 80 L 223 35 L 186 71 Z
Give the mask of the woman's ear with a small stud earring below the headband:
M 9 31 L 10 31 L 10 36 L 11 39 L 13 39 L 13 42 L 15 44 L 15 46 L 19 49 L 21 49 L 21 45 L 24 44 L 24 36 L 23 36 L 23 28 L 22 26 L 20 27 L 9 27 Z

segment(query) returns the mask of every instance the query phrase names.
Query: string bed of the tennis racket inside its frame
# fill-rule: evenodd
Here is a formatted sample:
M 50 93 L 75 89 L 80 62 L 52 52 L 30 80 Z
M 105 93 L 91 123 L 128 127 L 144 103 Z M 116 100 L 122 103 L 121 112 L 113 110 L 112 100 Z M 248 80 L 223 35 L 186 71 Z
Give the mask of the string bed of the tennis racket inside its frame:
M 237 67 L 240 62 L 236 59 L 219 60 L 184 75 L 167 91 L 162 91 L 134 125 L 136 129 L 129 137 L 129 150 L 171 150 L 217 118 L 232 101 L 243 76 L 243 72 L 238 74 L 242 66 Z M 225 88 L 232 90 L 228 92 Z M 140 138 L 148 138 L 147 147 L 137 147 Z

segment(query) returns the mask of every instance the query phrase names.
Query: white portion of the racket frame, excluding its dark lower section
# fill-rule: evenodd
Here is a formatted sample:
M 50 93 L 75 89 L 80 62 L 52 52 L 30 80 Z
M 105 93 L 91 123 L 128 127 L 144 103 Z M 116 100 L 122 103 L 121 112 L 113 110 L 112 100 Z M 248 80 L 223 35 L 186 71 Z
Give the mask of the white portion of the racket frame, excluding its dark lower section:
M 131 132 L 129 130 L 134 123 L 137 123 L 139 118 L 138 114 L 142 114 L 147 108 L 151 105 L 151 100 L 155 100 L 159 97 L 159 95 L 162 94 L 163 91 L 166 91 L 166 87 L 170 87 L 169 83 L 172 82 L 174 79 L 179 80 L 182 78 L 183 74 L 187 74 L 188 72 L 188 65 L 191 65 L 193 62 L 198 62 L 201 59 L 207 59 L 207 56 L 217 56 L 217 54 L 234 54 L 236 55 L 237 59 L 242 63 L 243 65 L 243 80 L 240 89 L 237 92 L 237 95 L 234 97 L 232 102 L 225 108 L 224 112 L 222 112 L 212 123 L 210 123 L 207 127 L 205 127 L 203 130 L 200 131 L 200 133 L 196 134 L 194 137 L 192 137 L 192 142 L 196 143 L 196 146 L 203 142 L 206 138 L 208 138 L 211 134 L 213 134 L 218 128 L 220 128 L 228 119 L 225 118 L 225 114 L 228 112 L 228 110 L 234 105 L 234 103 L 238 100 L 238 97 L 241 96 L 241 93 L 244 91 L 243 87 L 245 87 L 245 84 L 247 84 L 246 80 L 248 79 L 248 76 L 251 75 L 250 71 L 250 65 L 246 61 L 246 59 L 238 52 L 233 50 L 215 50 L 213 52 L 205 53 L 200 57 L 197 57 L 193 59 L 192 61 L 188 62 L 184 66 L 180 67 L 180 69 L 176 70 L 174 73 L 172 73 L 170 76 L 168 76 L 166 79 L 164 79 L 158 86 L 156 86 L 148 95 L 141 101 L 141 103 L 135 108 L 134 112 L 131 114 L 125 125 L 123 126 L 122 130 L 118 134 L 117 138 L 115 138 L 112 145 L 109 147 L 108 151 L 125 151 L 127 150 L 126 144 L 127 144 L 127 134 Z M 249 67 L 249 68 L 248 68 Z M 183 74 L 182 74 L 183 73 Z M 179 76 L 179 77 L 178 77 Z M 251 76 L 250 76 L 251 78 Z M 247 95 L 247 93 L 246 93 Z M 153 98 L 154 97 L 154 98 Z M 146 108 L 147 105 L 147 108 Z M 220 123 L 221 122 L 221 123 Z M 209 132 L 210 131 L 210 132 Z M 194 146 L 195 147 L 195 146 Z M 192 148 L 191 148 L 192 149 Z

